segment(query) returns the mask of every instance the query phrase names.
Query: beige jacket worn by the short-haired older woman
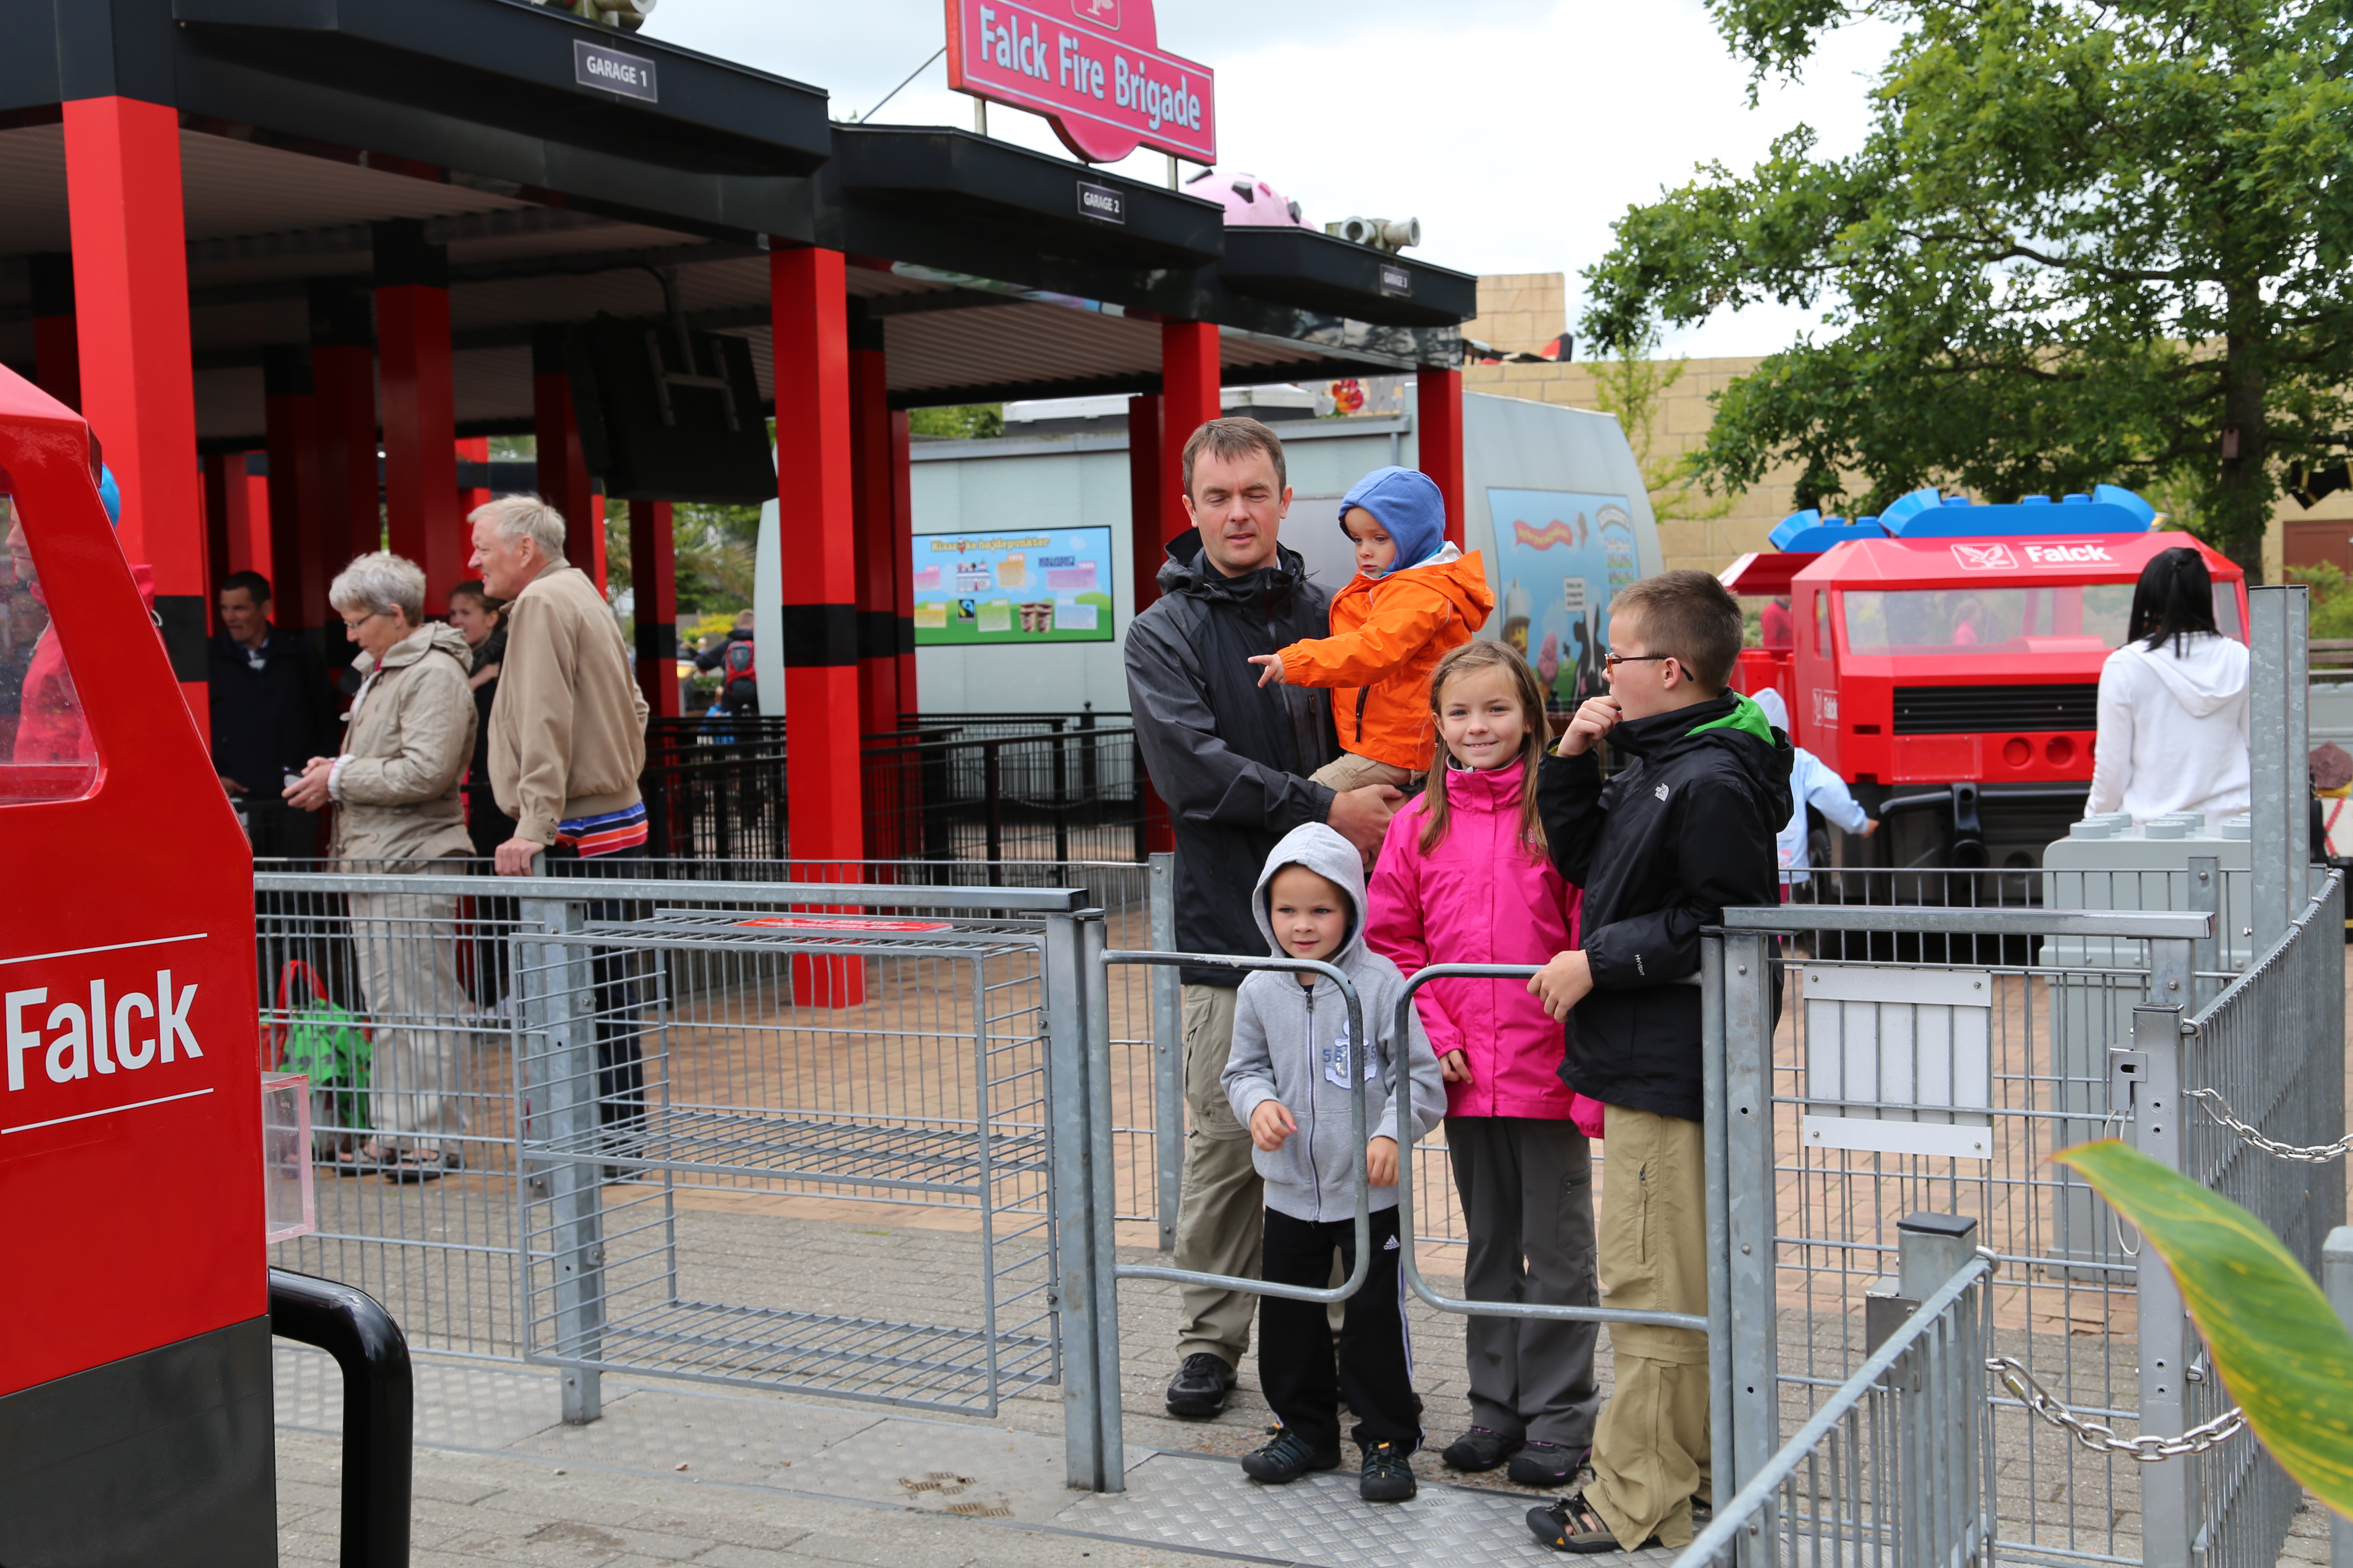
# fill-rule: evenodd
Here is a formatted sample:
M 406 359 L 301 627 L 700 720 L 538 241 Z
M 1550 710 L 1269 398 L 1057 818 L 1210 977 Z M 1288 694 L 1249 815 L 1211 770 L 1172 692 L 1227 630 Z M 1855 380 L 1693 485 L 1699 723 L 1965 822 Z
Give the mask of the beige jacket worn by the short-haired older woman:
M 353 661 L 369 672 L 362 654 Z M 336 762 L 334 853 L 344 860 L 424 860 L 473 853 L 461 785 L 473 762 L 466 639 L 424 625 L 384 656 L 344 719 Z

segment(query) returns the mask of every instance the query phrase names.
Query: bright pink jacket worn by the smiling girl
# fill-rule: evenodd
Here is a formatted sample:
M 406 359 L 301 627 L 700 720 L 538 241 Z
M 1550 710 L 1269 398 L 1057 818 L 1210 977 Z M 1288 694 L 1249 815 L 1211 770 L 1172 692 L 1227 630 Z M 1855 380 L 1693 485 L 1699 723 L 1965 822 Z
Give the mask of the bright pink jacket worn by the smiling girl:
M 1367 893 L 1372 950 L 1412 976 L 1426 964 L 1544 964 L 1574 947 L 1577 889 L 1520 844 L 1522 766 L 1447 769 L 1445 780 L 1447 837 L 1428 858 L 1419 797 L 1388 823 Z M 1572 1117 L 1562 1032 L 1527 980 L 1431 980 L 1414 1006 L 1431 1048 L 1471 1065 L 1468 1084 L 1447 1084 L 1449 1117 Z

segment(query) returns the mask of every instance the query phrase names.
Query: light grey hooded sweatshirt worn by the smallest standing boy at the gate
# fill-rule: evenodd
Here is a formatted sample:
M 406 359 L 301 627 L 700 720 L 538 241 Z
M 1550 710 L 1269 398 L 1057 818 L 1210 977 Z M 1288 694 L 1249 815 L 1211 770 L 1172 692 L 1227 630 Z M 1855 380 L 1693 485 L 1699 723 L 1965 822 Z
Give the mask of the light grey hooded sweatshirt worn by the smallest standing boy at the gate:
M 1355 1182 L 1365 1173 L 1365 1150 L 1348 1131 L 1348 1067 L 1365 1072 L 1365 1138 L 1400 1138 L 1398 1107 L 1388 1081 L 1398 1058 L 1398 997 L 1405 976 L 1379 952 L 1365 947 L 1365 863 L 1355 846 L 1322 823 L 1292 827 L 1266 856 L 1249 910 L 1259 917 L 1259 936 L 1275 957 L 1289 957 L 1275 940 L 1268 917 L 1268 884 L 1285 865 L 1306 865 L 1348 896 L 1348 936 L 1329 964 L 1348 976 L 1365 1004 L 1365 1032 L 1372 1034 L 1372 1060 L 1351 1051 L 1348 1004 L 1327 976 L 1299 985 L 1297 973 L 1254 969 L 1233 999 L 1233 1056 L 1226 1058 L 1226 1100 L 1245 1124 L 1266 1100 L 1280 1100 L 1299 1131 L 1268 1154 L 1252 1147 L 1249 1159 L 1266 1178 L 1266 1206 L 1294 1220 L 1353 1220 Z M 1421 1032 L 1421 1016 L 1407 1009 L 1407 1060 L 1414 1074 L 1414 1128 L 1421 1140 L 1447 1114 L 1447 1086 Z M 1400 1138 L 1402 1143 L 1402 1138 Z M 1395 1187 L 1372 1190 L 1374 1208 L 1395 1208 Z

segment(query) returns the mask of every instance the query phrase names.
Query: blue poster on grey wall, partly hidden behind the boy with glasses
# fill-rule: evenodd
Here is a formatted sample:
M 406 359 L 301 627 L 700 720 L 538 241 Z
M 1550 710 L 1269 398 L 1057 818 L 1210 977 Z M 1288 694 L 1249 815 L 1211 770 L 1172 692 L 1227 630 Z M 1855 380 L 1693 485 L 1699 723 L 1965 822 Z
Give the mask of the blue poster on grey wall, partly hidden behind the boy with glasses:
M 1626 496 L 1489 489 L 1504 642 L 1527 654 L 1553 708 L 1602 696 L 1609 599 L 1642 576 Z

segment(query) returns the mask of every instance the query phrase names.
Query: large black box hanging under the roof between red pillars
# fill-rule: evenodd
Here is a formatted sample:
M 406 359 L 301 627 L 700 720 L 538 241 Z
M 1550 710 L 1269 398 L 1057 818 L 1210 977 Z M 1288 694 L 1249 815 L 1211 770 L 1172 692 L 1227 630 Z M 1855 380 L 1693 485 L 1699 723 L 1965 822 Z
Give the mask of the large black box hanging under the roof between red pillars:
M 565 339 L 581 456 L 605 494 L 760 503 L 776 465 L 751 343 L 598 315 Z

